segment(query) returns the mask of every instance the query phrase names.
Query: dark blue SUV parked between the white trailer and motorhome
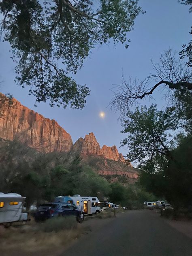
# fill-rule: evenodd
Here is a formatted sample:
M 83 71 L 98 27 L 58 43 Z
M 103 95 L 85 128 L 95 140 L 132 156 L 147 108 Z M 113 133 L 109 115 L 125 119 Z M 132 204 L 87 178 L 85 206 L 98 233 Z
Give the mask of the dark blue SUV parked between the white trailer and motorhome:
M 57 216 L 75 216 L 81 221 L 81 211 L 71 203 L 46 203 L 37 208 L 35 221 L 43 221 Z

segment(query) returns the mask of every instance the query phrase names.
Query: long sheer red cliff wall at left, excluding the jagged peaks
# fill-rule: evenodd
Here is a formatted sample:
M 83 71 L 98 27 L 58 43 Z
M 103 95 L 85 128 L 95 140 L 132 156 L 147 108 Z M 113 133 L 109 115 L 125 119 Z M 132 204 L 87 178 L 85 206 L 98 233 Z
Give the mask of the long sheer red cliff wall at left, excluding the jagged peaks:
M 0 137 L 18 138 L 22 143 L 41 152 L 68 152 L 73 146 L 68 134 L 55 120 L 43 117 L 13 98 L 11 104 L 4 98 L 0 104 Z

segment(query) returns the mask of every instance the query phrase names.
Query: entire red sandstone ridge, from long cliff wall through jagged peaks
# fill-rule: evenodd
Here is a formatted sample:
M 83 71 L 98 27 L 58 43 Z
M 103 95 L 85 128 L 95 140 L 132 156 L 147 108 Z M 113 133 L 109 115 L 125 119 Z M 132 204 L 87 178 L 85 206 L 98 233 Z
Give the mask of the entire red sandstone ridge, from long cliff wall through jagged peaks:
M 89 158 L 93 158 L 98 166 L 95 171 L 102 170 L 99 171 L 102 175 L 108 175 L 112 170 L 118 172 L 117 175 L 128 176 L 127 172 L 131 173 L 132 170 L 132 164 L 125 160 L 122 154 L 119 154 L 116 146 L 104 145 L 100 148 L 93 132 L 85 135 L 84 139 L 78 139 L 73 145 L 70 134 L 55 120 L 45 118 L 24 107 L 15 98 L 10 102 L 2 94 L 0 94 L 0 138 L 9 141 L 18 139 L 21 143 L 44 153 L 66 152 L 69 160 L 73 160 L 74 156 L 78 155 L 85 162 L 90 161 Z M 111 169 L 110 160 L 115 163 L 113 169 Z M 103 164 L 101 164 L 102 162 Z M 132 177 L 134 179 L 134 176 Z

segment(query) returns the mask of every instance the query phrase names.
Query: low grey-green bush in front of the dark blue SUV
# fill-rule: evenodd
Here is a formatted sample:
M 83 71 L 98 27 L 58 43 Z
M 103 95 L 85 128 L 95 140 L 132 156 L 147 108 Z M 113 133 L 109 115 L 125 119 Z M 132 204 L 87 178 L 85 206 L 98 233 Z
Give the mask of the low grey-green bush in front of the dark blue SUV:
M 40 226 L 43 232 L 59 232 L 62 229 L 70 230 L 77 228 L 77 221 L 75 217 L 55 217 L 46 222 L 42 223 Z

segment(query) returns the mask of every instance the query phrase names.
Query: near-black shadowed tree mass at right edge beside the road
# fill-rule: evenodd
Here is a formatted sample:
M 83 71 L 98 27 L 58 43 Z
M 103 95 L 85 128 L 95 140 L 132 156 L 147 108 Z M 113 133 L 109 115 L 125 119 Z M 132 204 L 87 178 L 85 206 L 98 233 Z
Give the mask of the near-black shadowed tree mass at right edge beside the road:
M 158 172 L 154 167 L 143 166 L 140 183 L 148 192 L 164 197 L 176 210 L 192 207 L 192 137 L 180 140 L 179 146 L 171 151 L 174 160 L 169 160 Z M 147 167 L 147 168 L 146 168 Z M 152 167 L 152 168 L 150 168 Z

